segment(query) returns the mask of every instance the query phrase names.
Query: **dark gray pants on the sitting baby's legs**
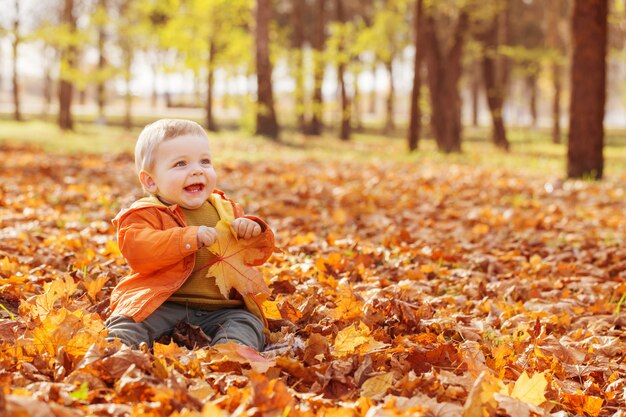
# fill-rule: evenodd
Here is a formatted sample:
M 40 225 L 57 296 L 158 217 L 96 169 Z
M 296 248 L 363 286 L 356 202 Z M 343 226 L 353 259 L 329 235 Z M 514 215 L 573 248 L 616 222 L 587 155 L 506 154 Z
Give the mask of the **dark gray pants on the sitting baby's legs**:
M 140 323 L 126 316 L 112 316 L 105 325 L 109 330 L 107 339 L 118 338 L 136 348 L 144 342 L 151 347 L 156 339 L 174 330 L 179 322 L 200 327 L 211 338 L 211 345 L 235 342 L 259 352 L 265 347 L 263 323 L 244 309 L 204 311 L 166 302 Z

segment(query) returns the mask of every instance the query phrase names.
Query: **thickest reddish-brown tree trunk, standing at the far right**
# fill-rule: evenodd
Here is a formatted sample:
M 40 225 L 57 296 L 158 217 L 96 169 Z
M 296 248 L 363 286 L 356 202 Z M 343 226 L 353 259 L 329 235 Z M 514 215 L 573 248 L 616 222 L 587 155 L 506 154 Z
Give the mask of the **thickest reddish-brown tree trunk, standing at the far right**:
M 603 175 L 607 15 L 608 0 L 574 1 L 568 178 Z

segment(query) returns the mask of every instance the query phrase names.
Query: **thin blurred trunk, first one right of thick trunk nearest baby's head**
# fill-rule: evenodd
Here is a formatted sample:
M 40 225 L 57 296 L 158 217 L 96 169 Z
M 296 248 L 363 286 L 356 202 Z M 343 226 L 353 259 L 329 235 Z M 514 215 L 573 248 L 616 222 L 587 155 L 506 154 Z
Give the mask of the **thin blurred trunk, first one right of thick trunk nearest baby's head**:
M 293 72 L 295 80 L 294 104 L 298 130 L 306 133 L 305 103 L 304 103 L 304 27 L 306 19 L 306 2 L 294 1 L 292 9 L 293 22 Z

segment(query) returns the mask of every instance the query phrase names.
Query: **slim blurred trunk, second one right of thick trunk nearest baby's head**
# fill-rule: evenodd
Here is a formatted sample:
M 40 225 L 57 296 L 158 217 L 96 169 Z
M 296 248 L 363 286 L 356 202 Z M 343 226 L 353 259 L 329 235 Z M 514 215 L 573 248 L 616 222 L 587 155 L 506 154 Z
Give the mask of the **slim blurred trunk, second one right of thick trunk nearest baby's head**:
M 315 31 L 313 35 L 313 108 L 311 109 L 311 121 L 308 133 L 321 135 L 323 129 L 324 101 L 322 97 L 322 83 L 324 82 L 324 29 L 326 26 L 324 13 L 326 0 L 315 0 L 317 12 L 315 14 Z

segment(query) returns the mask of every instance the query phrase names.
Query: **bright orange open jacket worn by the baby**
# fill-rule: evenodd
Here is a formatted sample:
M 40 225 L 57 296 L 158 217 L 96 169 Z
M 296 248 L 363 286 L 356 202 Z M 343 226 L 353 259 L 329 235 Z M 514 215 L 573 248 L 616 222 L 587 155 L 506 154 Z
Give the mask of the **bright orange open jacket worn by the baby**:
M 268 246 L 274 247 L 274 234 L 257 217 L 244 216 L 239 204 L 214 190 L 209 202 L 221 219 L 232 221 L 247 217 L 259 223 Z M 140 322 L 172 295 L 191 275 L 198 250 L 198 226 L 187 226 L 178 205 L 167 206 L 156 197 L 136 201 L 121 211 L 113 225 L 117 243 L 131 274 L 120 281 L 111 293 L 112 315 L 124 315 Z M 271 255 L 254 263 L 263 264 Z M 242 294 L 246 308 L 267 326 L 260 302 L 254 294 Z

